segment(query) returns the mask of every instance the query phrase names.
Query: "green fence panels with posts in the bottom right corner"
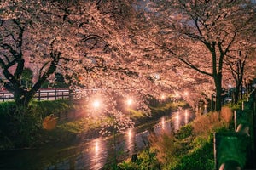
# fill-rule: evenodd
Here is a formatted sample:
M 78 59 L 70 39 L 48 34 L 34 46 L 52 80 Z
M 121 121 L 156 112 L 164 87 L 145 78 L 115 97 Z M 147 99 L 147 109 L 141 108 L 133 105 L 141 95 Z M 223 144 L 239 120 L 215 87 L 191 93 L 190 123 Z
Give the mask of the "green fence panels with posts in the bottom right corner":
M 215 169 L 256 168 L 256 92 L 234 112 L 235 131 L 214 134 Z

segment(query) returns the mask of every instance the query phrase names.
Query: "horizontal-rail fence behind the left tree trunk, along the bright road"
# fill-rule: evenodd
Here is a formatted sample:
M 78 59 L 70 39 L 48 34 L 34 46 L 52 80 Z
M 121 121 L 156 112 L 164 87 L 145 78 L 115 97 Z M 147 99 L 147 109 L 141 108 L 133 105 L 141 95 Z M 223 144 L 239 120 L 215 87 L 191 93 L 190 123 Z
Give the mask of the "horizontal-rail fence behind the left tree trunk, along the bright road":
M 34 99 L 40 100 L 56 100 L 70 99 L 71 93 L 69 89 L 40 89 L 35 94 Z M 0 102 L 14 100 L 14 95 L 8 91 L 0 92 Z

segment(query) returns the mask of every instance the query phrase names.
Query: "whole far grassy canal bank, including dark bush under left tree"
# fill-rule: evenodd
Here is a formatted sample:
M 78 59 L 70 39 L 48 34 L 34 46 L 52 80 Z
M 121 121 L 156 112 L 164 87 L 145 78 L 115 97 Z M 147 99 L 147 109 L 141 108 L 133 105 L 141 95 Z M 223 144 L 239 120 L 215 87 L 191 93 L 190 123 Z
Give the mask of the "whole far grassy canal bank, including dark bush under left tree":
M 177 111 L 180 107 L 187 107 L 183 102 L 165 103 L 152 107 L 150 116 L 138 111 L 131 111 L 130 117 L 136 127 L 147 127 L 161 116 L 166 116 L 171 111 Z M 34 103 L 30 113 L 15 115 L 12 111 L 14 104 L 9 102 L 0 105 L 0 150 L 15 150 L 22 148 L 44 148 L 49 145 L 78 144 L 84 140 L 99 137 L 101 122 L 81 110 L 70 101 L 42 101 Z M 45 130 L 42 126 L 44 118 L 54 114 L 57 118 L 56 126 Z M 29 117 L 24 117 L 29 116 Z M 22 120 L 26 122 L 22 122 Z M 20 138 L 21 136 L 22 138 Z

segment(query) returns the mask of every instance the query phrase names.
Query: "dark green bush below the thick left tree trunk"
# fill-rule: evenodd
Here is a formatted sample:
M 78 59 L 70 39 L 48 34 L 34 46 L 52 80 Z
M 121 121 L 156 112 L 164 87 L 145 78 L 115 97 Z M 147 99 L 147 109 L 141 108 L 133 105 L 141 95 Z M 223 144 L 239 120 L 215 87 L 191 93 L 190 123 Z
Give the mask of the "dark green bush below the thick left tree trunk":
M 19 108 L 15 102 L 0 104 L 1 149 L 25 147 L 32 144 L 36 132 L 41 127 L 41 116 L 31 108 Z

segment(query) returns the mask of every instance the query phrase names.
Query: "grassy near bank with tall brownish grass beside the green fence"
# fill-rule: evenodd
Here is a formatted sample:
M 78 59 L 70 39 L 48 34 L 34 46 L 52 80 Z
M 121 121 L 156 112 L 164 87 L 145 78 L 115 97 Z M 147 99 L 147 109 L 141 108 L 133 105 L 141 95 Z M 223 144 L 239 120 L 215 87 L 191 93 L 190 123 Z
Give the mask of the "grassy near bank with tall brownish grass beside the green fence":
M 224 107 L 218 113 L 198 116 L 195 121 L 181 127 L 177 133 L 152 135 L 146 150 L 139 153 L 137 160 L 119 164 L 119 169 L 214 169 L 213 133 L 228 131 L 232 111 Z

